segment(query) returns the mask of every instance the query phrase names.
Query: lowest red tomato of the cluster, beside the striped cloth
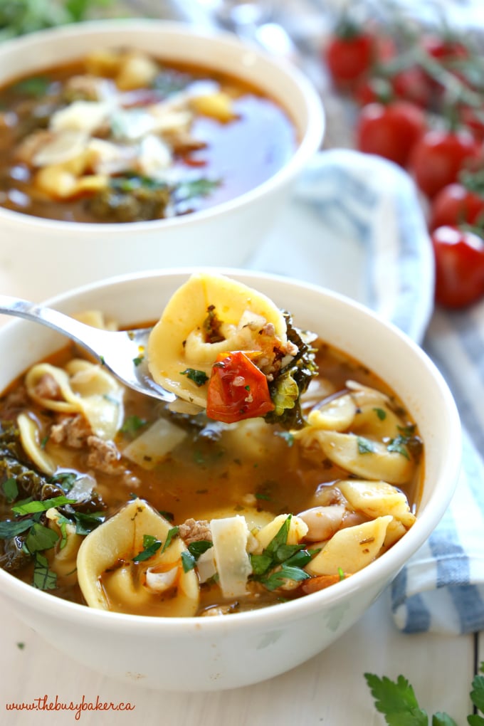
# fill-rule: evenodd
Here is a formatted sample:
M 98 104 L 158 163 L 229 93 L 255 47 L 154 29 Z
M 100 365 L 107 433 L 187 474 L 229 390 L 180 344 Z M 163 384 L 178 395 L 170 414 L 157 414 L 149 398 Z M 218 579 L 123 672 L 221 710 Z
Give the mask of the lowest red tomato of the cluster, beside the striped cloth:
M 432 232 L 435 255 L 435 301 L 464 308 L 484 296 L 484 240 L 456 226 Z

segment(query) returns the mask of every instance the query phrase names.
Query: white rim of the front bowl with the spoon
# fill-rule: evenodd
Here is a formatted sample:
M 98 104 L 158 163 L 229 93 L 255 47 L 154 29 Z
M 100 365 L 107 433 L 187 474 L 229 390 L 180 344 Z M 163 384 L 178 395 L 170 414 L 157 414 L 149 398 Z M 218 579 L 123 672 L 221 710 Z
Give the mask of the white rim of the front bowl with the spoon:
M 72 298 L 79 295 L 95 295 L 102 290 L 107 290 L 107 288 L 123 287 L 123 285 L 130 283 L 137 284 L 147 278 L 159 279 L 160 277 L 175 277 L 176 275 L 188 276 L 192 272 L 200 272 L 203 269 L 200 267 L 197 267 L 196 270 L 193 267 L 173 267 L 169 269 L 122 274 L 105 280 L 91 282 L 81 287 L 76 287 L 74 290 L 60 293 L 46 301 L 46 304 L 60 306 L 60 309 L 62 309 L 63 304 L 69 303 Z M 7 597 L 9 600 L 27 602 L 30 608 L 34 608 L 36 611 L 48 611 L 48 616 L 51 618 L 57 617 L 67 621 L 80 619 L 90 627 L 98 629 L 109 628 L 115 632 L 124 632 L 126 626 L 129 626 L 131 629 L 139 632 L 140 635 L 152 629 L 156 632 L 166 632 L 166 635 L 169 636 L 179 636 L 187 632 L 192 635 L 196 632 L 207 632 L 210 634 L 213 632 L 213 629 L 218 630 L 221 628 L 221 622 L 223 622 L 222 627 L 225 630 L 238 630 L 246 626 L 256 627 L 258 629 L 264 629 L 265 627 L 274 629 L 278 625 L 282 626 L 286 621 L 303 619 L 306 616 L 310 616 L 325 606 L 329 605 L 331 608 L 337 607 L 340 603 L 344 603 L 352 592 L 358 592 L 361 584 L 364 585 L 363 590 L 366 590 L 366 587 L 371 588 L 372 585 L 374 586 L 379 581 L 390 582 L 401 568 L 403 568 L 411 555 L 430 537 L 430 534 L 435 529 L 435 526 L 437 526 L 451 501 L 461 469 L 461 424 L 459 412 L 446 380 L 430 357 L 427 356 L 414 340 L 411 340 L 406 333 L 403 333 L 395 327 L 393 323 L 387 321 L 387 319 L 372 311 L 367 306 L 364 306 L 362 303 L 353 301 L 342 293 L 337 293 L 319 285 L 284 277 L 279 274 L 226 267 L 216 268 L 213 266 L 206 268 L 207 271 L 208 269 L 211 272 L 237 277 L 247 285 L 254 285 L 258 281 L 263 282 L 263 280 L 266 280 L 268 282 L 279 283 L 283 286 L 285 285 L 291 288 L 292 291 L 304 288 L 304 290 L 309 290 L 311 293 L 321 296 L 326 304 L 332 303 L 343 306 L 348 311 L 351 311 L 352 314 L 361 317 L 361 319 L 369 320 L 370 325 L 385 328 L 389 335 L 405 344 L 409 348 L 410 354 L 414 358 L 419 359 L 422 366 L 427 369 L 429 375 L 435 380 L 435 386 L 438 387 L 443 401 L 446 404 L 448 428 L 451 431 L 451 437 L 456 445 L 446 452 L 448 461 L 445 481 L 438 482 L 438 486 L 432 493 L 430 501 L 427 502 L 424 512 L 422 515 L 417 516 L 417 521 L 414 526 L 390 550 L 385 552 L 382 557 L 374 560 L 369 566 L 356 572 L 343 582 L 338 583 L 337 588 L 329 587 L 326 590 L 313 592 L 309 597 L 305 596 L 288 601 L 287 603 L 278 603 L 275 608 L 266 607 L 253 611 L 234 613 L 229 619 L 223 618 L 222 621 L 219 618 L 172 618 L 101 611 L 95 608 L 89 608 L 87 605 L 62 600 L 60 597 L 49 594 L 49 592 L 36 590 L 32 585 L 22 582 L 2 568 L 0 568 L 0 595 Z M 0 328 L 0 340 L 4 335 L 2 330 L 24 325 L 26 325 L 25 320 L 12 320 L 7 325 L 2 326 Z M 432 506 L 430 506 L 430 502 L 432 502 Z

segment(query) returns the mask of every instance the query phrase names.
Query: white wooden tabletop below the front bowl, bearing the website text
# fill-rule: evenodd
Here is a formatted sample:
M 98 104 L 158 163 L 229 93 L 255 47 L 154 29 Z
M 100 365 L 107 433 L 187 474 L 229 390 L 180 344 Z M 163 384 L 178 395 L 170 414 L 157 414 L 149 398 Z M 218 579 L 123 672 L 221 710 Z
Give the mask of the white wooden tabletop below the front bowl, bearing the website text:
M 12 616 L 0 600 L 0 723 L 75 724 L 83 700 L 129 703 L 131 711 L 82 711 L 83 726 L 372 726 L 384 724 L 364 673 L 409 678 L 420 706 L 446 711 L 459 725 L 470 713 L 474 637 L 402 635 L 385 592 L 343 637 L 297 669 L 260 685 L 221 693 L 162 693 L 104 678 L 66 658 Z M 62 632 L 59 633 L 62 638 Z M 483 644 L 484 645 L 484 644 Z M 163 658 L 163 654 L 160 653 Z M 234 653 L 234 657 L 237 654 Z M 203 664 L 200 664 L 203 667 Z M 44 701 L 44 697 L 45 701 Z M 7 710 L 7 704 L 74 704 L 71 711 Z

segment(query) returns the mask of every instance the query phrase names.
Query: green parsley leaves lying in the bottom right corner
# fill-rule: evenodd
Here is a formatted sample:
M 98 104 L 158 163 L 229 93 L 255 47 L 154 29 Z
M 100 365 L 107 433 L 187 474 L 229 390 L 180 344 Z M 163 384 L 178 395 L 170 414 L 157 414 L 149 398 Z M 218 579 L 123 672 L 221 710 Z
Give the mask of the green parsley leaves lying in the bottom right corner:
M 484 661 L 480 664 L 479 674 L 472 680 L 470 698 L 477 711 L 484 714 Z M 414 689 L 402 675 L 393 681 L 386 676 L 380 678 L 372 673 L 364 677 L 372 692 L 377 711 L 385 716 L 388 726 L 428 726 L 429 717 L 421 709 Z M 484 726 L 484 716 L 478 713 L 467 716 L 470 726 Z M 432 716 L 432 726 L 457 726 L 453 718 L 438 711 Z

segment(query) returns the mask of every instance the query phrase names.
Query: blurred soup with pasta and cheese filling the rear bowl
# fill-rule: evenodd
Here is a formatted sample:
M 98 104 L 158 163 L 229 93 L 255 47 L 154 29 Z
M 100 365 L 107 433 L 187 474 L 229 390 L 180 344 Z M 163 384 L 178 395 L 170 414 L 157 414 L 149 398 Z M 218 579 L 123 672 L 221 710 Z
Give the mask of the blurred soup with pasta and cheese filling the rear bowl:
M 130 222 L 198 211 L 276 174 L 287 110 L 210 68 L 103 50 L 0 89 L 0 205 Z

